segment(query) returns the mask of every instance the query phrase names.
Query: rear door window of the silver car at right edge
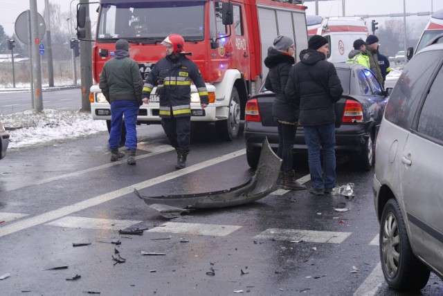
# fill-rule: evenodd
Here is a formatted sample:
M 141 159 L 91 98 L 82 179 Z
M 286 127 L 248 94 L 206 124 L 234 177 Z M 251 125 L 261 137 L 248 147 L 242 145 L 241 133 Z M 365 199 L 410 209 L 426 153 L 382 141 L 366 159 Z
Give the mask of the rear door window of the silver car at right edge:
M 443 68 L 435 77 L 420 113 L 417 131 L 443 142 Z

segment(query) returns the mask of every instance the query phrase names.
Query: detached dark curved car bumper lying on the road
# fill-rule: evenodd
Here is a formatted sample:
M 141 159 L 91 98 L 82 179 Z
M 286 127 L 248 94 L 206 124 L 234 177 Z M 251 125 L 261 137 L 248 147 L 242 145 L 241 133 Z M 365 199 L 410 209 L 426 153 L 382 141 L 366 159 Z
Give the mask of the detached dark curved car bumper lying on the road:
M 257 201 L 270 194 L 273 185 L 280 173 L 282 160 L 278 158 L 269 147 L 266 138 L 262 144 L 260 160 L 255 175 L 248 182 L 226 190 L 217 192 L 204 192 L 199 194 L 181 194 L 168 196 L 142 196 L 134 189 L 138 198 L 143 199 L 148 205 L 164 204 L 180 208 L 208 209 L 217 207 L 232 207 Z

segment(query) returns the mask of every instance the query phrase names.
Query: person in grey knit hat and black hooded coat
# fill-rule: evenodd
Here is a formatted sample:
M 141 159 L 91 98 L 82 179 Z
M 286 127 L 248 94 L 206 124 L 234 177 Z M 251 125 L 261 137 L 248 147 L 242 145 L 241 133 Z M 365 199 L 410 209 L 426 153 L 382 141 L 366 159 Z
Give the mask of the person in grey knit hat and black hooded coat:
M 278 157 L 282 158 L 280 185 L 287 190 L 306 189 L 296 180 L 296 173 L 292 168 L 292 149 L 296 138 L 298 107 L 293 98 L 284 94 L 284 87 L 288 81 L 289 70 L 295 63 L 293 58 L 296 52 L 293 39 L 279 35 L 273 41 L 273 47 L 268 49 L 268 56 L 264 64 L 269 68 L 264 86 L 275 93 L 272 104 L 272 115 L 278 126 Z

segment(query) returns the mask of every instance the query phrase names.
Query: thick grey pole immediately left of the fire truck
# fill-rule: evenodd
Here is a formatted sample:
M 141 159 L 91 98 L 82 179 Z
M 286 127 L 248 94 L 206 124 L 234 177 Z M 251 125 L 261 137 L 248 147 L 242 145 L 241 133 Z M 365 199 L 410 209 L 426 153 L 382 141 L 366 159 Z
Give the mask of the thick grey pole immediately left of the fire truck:
M 91 18 L 89 17 L 89 0 L 80 0 L 80 5 L 86 6 L 86 37 L 92 39 L 91 36 Z M 91 102 L 89 102 L 89 91 L 92 86 L 92 48 L 91 41 L 80 41 L 80 72 L 82 80 L 82 111 L 91 111 Z

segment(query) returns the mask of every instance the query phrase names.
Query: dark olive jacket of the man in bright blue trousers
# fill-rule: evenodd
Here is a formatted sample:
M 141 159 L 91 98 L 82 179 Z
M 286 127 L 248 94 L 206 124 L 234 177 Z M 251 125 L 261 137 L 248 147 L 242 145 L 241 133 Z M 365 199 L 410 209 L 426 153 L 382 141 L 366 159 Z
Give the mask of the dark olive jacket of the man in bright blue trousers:
M 118 100 L 141 101 L 143 78 L 134 59 L 127 50 L 116 50 L 114 58 L 105 63 L 98 86 L 108 102 Z

